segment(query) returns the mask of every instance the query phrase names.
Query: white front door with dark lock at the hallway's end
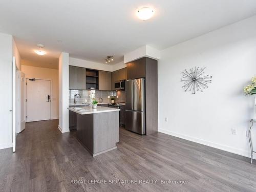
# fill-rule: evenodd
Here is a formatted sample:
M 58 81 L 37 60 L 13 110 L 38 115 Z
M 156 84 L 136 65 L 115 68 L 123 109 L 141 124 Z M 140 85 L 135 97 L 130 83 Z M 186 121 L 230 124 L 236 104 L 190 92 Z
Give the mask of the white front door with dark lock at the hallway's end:
M 29 80 L 27 83 L 27 122 L 49 120 L 51 118 L 51 81 Z

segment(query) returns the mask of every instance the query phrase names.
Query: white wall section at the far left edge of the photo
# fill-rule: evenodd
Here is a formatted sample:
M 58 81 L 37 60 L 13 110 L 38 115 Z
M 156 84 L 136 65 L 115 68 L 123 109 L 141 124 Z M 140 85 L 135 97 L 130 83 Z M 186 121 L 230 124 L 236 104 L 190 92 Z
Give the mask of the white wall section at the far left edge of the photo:
M 0 33 L 0 149 L 12 147 L 12 35 Z

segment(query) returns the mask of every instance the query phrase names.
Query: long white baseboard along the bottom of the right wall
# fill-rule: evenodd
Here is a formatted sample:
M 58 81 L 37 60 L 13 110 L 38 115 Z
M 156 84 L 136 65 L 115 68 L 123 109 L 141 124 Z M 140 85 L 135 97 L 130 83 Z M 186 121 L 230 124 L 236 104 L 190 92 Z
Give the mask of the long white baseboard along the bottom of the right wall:
M 175 137 L 179 137 L 179 138 L 182 138 L 182 139 L 185 139 L 185 140 L 188 140 L 188 141 L 193 141 L 193 142 L 196 142 L 196 143 L 200 143 L 200 144 L 203 144 L 203 145 L 207 145 L 207 146 L 210 146 L 210 147 L 218 148 L 219 150 L 223 150 L 223 151 L 230 152 L 230 153 L 233 153 L 233 154 L 242 155 L 242 156 L 245 156 L 245 157 L 251 157 L 249 151 L 243 151 L 243 150 L 240 150 L 239 148 L 234 148 L 234 147 L 230 147 L 230 146 L 227 146 L 227 145 L 206 141 L 206 140 L 203 140 L 203 139 L 199 139 L 199 138 L 191 137 L 191 136 L 188 136 L 188 135 L 183 135 L 183 134 L 171 132 L 171 131 L 164 130 L 164 129 L 158 129 L 158 132 L 165 133 L 167 135 L 172 135 L 172 136 L 175 136 Z M 256 159 L 255 156 L 256 155 L 254 155 L 253 159 Z

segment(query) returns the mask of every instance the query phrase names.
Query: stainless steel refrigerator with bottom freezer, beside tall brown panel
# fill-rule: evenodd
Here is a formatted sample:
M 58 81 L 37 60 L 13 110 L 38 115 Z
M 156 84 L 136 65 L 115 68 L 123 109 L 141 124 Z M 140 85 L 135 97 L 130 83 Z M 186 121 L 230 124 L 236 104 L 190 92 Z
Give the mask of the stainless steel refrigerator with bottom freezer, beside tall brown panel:
M 125 82 L 125 129 L 146 134 L 145 130 L 145 79 L 127 80 Z

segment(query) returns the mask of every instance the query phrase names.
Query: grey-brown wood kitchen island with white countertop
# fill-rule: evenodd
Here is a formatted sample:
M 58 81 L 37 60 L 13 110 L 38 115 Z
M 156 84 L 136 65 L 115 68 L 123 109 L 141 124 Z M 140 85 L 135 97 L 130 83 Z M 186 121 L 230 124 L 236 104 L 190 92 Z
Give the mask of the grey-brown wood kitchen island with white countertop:
M 120 109 L 98 106 L 68 108 L 76 113 L 76 137 L 86 149 L 96 156 L 116 148 L 119 142 Z

